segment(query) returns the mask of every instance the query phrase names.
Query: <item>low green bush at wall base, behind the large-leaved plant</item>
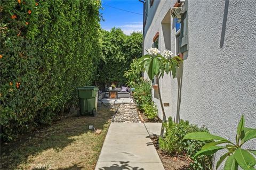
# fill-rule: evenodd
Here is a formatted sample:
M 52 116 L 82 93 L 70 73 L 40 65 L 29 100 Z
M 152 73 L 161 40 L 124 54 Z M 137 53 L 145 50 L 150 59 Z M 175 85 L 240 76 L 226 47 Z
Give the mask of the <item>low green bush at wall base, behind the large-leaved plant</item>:
M 186 155 L 192 159 L 190 169 L 210 170 L 212 167 L 212 156 L 198 156 L 192 158 L 202 146 L 211 141 L 184 140 L 183 137 L 190 132 L 209 132 L 206 128 L 198 128 L 197 125 L 190 125 L 188 121 L 181 120 L 174 123 L 169 117 L 165 124 L 165 138 L 159 138 L 159 147 L 170 155 Z

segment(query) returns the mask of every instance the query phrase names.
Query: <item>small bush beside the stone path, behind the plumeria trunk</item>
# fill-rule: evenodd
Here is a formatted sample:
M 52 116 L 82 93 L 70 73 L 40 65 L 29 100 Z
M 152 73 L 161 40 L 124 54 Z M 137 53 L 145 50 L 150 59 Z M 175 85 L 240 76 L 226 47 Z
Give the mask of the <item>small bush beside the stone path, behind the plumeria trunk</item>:
M 139 109 L 142 109 L 142 104 L 152 102 L 151 81 L 141 78 L 140 82 L 134 85 L 134 88 L 133 98 Z

